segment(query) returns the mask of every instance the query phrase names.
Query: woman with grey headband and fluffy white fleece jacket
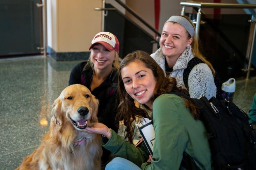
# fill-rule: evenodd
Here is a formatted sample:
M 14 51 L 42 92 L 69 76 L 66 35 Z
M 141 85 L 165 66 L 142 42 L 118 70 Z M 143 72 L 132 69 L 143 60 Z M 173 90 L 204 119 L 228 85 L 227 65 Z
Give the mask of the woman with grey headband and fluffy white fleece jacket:
M 209 61 L 200 53 L 195 37 L 195 26 L 186 16 L 172 16 L 164 24 L 160 38 L 160 48 L 151 57 L 171 77 L 176 77 L 178 85 L 184 85 L 184 69 L 188 62 L 200 59 L 203 63 L 195 65 L 190 71 L 187 85 L 190 97 L 208 99 L 216 97 L 214 84 L 215 71 Z M 195 61 L 193 59 L 193 61 Z M 190 62 L 190 64 L 192 64 Z

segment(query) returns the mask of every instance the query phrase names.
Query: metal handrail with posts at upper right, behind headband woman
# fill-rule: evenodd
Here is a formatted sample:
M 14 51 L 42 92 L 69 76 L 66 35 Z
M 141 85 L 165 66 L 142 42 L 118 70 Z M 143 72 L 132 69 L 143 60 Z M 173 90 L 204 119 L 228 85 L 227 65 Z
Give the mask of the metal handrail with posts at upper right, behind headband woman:
M 193 8 L 198 8 L 197 16 L 196 16 L 196 23 L 201 22 L 201 8 L 256 8 L 256 4 L 225 4 L 225 3 L 206 3 L 206 2 L 180 2 L 180 5 L 182 6 L 182 11 L 181 15 L 185 15 L 185 7 L 193 7 Z M 255 40 L 255 35 L 256 35 L 256 21 L 252 21 L 251 23 L 253 24 L 253 34 L 252 34 L 252 41 L 250 44 L 248 43 L 248 46 L 250 45 L 250 52 L 249 52 L 249 61 L 247 65 L 247 75 L 246 75 L 246 80 L 249 80 L 250 78 L 250 71 L 251 71 L 251 65 L 252 65 L 252 53 L 253 53 L 253 47 L 254 47 L 254 40 Z M 196 24 L 196 38 L 199 38 L 199 31 L 200 31 L 200 24 Z

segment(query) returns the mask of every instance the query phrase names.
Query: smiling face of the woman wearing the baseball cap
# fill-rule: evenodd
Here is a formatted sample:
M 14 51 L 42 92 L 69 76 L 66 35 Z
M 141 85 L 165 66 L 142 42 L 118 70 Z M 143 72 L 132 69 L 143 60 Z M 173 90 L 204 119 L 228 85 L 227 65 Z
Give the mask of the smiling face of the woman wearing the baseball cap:
M 95 69 L 112 69 L 115 57 L 115 50 L 109 51 L 100 43 L 92 47 L 90 58 Z

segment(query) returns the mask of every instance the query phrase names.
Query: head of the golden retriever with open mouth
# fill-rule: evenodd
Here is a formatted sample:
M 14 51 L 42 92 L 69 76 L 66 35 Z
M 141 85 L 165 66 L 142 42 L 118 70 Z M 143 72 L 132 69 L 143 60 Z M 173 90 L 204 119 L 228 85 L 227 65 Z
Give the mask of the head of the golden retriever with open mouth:
M 66 87 L 52 105 L 52 123 L 62 126 L 65 120 L 77 130 L 97 122 L 98 100 L 84 85 Z

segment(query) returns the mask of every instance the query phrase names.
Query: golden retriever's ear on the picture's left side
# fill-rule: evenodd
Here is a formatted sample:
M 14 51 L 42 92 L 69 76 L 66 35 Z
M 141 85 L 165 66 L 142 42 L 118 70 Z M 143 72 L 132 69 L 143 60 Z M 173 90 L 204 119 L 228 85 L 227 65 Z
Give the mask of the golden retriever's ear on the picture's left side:
M 57 126 L 59 129 L 62 126 L 63 114 L 61 111 L 61 100 L 58 97 L 52 105 L 52 119 L 51 126 Z

